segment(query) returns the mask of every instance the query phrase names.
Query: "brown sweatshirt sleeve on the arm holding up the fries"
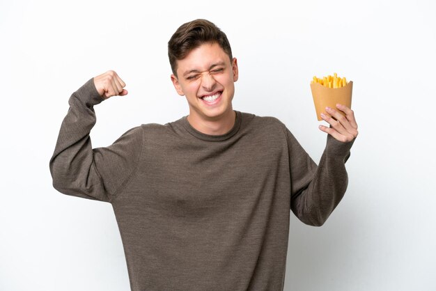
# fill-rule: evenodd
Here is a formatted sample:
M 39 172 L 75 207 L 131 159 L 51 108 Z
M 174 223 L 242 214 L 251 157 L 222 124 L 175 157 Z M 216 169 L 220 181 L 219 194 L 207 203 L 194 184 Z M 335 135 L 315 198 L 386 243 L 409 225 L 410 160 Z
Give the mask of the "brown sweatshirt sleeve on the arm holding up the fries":
M 348 185 L 345 162 L 353 141 L 343 143 L 327 135 L 327 145 L 319 165 L 287 130 L 291 201 L 298 219 L 310 226 L 322 226 L 343 198 Z

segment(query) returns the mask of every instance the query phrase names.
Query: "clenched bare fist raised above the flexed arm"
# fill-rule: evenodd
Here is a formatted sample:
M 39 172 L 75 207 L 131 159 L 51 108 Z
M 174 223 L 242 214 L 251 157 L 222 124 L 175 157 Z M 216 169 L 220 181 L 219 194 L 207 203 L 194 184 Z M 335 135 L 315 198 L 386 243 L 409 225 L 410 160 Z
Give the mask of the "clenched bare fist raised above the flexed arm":
M 127 95 L 127 90 L 123 89 L 125 87 L 124 81 L 112 70 L 94 77 L 94 84 L 104 99 L 116 95 Z

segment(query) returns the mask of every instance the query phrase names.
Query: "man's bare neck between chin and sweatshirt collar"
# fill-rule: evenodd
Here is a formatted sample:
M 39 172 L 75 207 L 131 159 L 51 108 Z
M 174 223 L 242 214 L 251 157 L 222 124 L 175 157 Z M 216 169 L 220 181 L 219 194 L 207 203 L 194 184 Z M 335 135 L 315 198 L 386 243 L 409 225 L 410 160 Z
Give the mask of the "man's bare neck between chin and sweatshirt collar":
M 221 135 L 230 132 L 230 130 L 233 128 L 235 125 L 236 113 L 235 111 L 231 110 L 226 113 L 225 116 L 211 120 L 196 120 L 192 114 L 189 114 L 187 119 L 189 124 L 194 127 L 194 129 L 198 130 L 198 132 L 209 135 Z

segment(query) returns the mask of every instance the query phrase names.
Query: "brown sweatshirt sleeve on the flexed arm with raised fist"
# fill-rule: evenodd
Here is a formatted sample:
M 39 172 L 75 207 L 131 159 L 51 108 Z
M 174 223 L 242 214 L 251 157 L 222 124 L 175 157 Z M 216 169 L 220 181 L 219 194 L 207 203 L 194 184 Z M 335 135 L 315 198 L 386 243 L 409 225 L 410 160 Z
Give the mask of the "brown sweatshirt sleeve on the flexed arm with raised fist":
M 53 187 L 61 193 L 110 202 L 134 173 L 143 133 L 134 127 L 111 146 L 93 149 L 89 136 L 96 121 L 93 106 L 103 100 L 93 79 L 71 95 L 49 168 Z

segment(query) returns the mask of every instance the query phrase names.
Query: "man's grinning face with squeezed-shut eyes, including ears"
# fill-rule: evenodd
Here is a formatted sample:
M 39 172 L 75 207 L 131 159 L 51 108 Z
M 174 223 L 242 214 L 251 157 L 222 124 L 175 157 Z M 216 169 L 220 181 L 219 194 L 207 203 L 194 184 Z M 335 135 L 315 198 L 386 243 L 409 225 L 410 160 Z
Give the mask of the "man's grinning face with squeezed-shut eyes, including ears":
M 218 44 L 205 43 L 177 61 L 177 76 L 172 74 L 171 81 L 177 93 L 186 96 L 191 123 L 233 116 L 238 64 Z

